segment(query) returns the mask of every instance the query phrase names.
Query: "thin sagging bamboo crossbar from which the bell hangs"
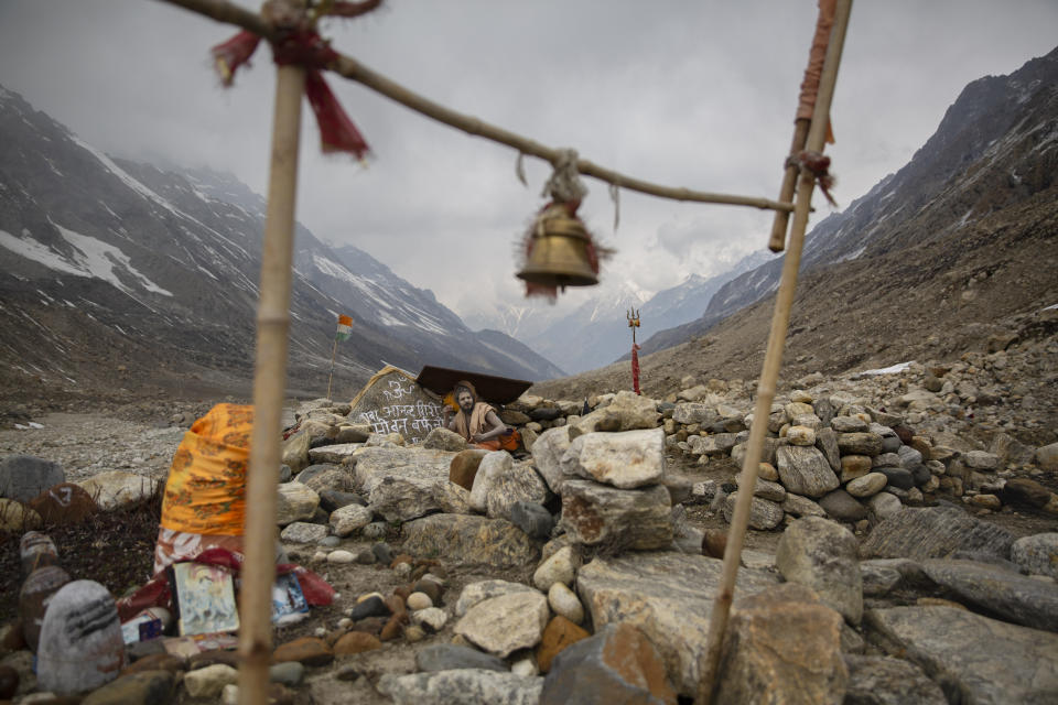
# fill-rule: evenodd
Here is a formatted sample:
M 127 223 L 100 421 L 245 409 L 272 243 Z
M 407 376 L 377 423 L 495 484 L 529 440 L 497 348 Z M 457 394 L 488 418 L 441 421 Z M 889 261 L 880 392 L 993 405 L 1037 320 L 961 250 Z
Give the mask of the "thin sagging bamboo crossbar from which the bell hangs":
M 198 14 L 213 18 L 218 22 L 236 24 L 245 30 L 249 30 L 250 32 L 259 34 L 267 40 L 276 39 L 274 29 L 267 24 L 260 18 L 260 15 L 230 2 L 226 2 L 225 0 L 164 1 L 191 10 Z M 381 95 L 396 102 L 399 102 L 406 108 L 447 124 L 449 127 L 456 128 L 457 130 L 462 130 L 468 134 L 485 138 L 486 140 L 490 140 L 493 142 L 506 144 L 507 147 L 517 150 L 520 154 L 537 156 L 552 164 L 559 159 L 559 152 L 561 151 L 560 149 L 546 147 L 529 138 L 494 124 L 489 124 L 488 122 L 485 122 L 478 118 L 463 115 L 439 102 L 434 102 L 429 98 L 420 96 L 419 94 L 404 88 L 400 84 L 387 78 L 371 68 L 368 68 L 360 62 L 349 56 L 339 54 L 338 58 L 327 68 L 335 72 L 339 76 L 348 78 L 349 80 L 355 80 L 364 86 L 367 86 L 368 88 L 371 88 L 376 93 L 380 93 Z M 794 210 L 792 203 L 771 200 L 769 198 L 738 196 L 733 194 L 717 194 L 704 191 L 694 191 L 679 186 L 663 186 L 644 181 L 641 178 L 634 178 L 631 176 L 620 174 L 619 172 L 606 169 L 605 166 L 600 166 L 598 164 L 584 159 L 577 161 L 576 169 L 585 176 L 593 176 L 606 182 L 607 184 L 612 184 L 620 188 L 627 188 L 629 191 L 637 191 L 639 193 L 657 196 L 659 198 L 694 203 L 715 203 L 732 206 L 751 206 L 766 210 L 770 209 L 787 213 Z

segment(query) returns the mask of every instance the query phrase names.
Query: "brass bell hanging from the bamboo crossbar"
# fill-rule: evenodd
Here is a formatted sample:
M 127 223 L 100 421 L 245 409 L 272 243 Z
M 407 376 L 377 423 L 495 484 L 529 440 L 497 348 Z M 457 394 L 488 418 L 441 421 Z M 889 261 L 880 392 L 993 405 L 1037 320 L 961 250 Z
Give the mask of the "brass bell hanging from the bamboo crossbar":
M 541 286 L 593 286 L 598 275 L 592 269 L 584 225 L 563 206 L 552 206 L 537 218 L 529 254 L 518 279 Z

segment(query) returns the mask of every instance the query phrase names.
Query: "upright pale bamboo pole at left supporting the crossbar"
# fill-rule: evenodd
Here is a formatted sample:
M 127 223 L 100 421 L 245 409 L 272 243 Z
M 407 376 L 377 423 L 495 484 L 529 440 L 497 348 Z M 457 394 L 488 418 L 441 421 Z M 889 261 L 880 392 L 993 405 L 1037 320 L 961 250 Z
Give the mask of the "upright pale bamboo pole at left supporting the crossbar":
M 298 191 L 298 139 L 305 70 L 277 67 L 268 214 L 261 253 L 253 373 L 253 436 L 246 497 L 246 562 L 239 628 L 239 703 L 268 702 L 276 582 L 276 486 L 281 462 L 282 403 L 290 328 L 291 259 Z

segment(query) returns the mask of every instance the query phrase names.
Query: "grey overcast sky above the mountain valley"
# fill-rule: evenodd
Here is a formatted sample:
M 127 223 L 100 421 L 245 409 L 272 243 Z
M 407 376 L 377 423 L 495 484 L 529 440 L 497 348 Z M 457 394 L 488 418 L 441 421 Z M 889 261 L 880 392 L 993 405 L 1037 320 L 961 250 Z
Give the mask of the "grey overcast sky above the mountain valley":
M 814 0 L 389 0 L 323 34 L 429 98 L 624 174 L 775 198 L 816 14 Z M 841 207 L 903 166 L 965 84 L 1046 54 L 1056 30 L 1056 0 L 854 3 L 828 149 Z M 261 47 L 219 87 L 208 50 L 235 31 L 155 0 L 0 0 L 0 84 L 111 154 L 229 171 L 263 194 L 274 72 Z M 306 109 L 299 220 L 461 315 L 518 303 L 514 243 L 549 165 L 526 160 L 527 188 L 514 150 L 328 80 L 375 159 L 322 156 Z M 767 240 L 770 214 L 629 192 L 614 231 L 606 185 L 585 184 L 581 213 L 618 250 L 608 285 L 654 293 Z

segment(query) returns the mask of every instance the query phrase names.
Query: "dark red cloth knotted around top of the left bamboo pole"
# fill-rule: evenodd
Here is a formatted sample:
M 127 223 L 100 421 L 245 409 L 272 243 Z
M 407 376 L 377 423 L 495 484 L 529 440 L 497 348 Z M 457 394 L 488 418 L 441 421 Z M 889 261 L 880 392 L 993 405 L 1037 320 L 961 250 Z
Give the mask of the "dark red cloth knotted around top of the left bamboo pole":
M 242 31 L 213 47 L 210 53 L 225 86 L 233 84 L 240 66 L 249 64 L 259 42 L 258 35 Z M 272 44 L 272 56 L 280 66 L 305 67 L 305 96 L 320 127 L 321 149 L 324 152 L 348 152 L 357 159 L 367 156 L 370 153 L 367 142 L 320 72 L 337 61 L 338 53 L 314 30 L 299 29 L 281 33 Z

